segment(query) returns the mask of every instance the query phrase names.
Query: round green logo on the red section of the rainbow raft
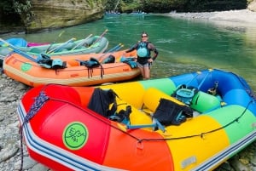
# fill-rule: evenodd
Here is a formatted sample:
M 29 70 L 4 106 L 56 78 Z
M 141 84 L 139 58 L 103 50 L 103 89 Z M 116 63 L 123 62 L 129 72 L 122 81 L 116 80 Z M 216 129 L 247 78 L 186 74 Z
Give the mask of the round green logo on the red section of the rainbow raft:
M 69 123 L 62 134 L 63 143 L 68 149 L 79 150 L 88 140 L 88 129 L 83 123 Z

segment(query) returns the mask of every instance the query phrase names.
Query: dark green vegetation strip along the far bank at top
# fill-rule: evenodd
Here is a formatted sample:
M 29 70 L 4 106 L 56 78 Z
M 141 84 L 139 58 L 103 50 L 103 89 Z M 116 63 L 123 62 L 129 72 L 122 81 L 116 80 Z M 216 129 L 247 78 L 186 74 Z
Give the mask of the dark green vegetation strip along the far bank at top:
M 120 0 L 119 12 L 143 10 L 150 13 L 167 13 L 172 10 L 183 12 L 221 11 L 246 9 L 251 0 Z M 106 10 L 113 10 L 118 0 L 108 0 Z

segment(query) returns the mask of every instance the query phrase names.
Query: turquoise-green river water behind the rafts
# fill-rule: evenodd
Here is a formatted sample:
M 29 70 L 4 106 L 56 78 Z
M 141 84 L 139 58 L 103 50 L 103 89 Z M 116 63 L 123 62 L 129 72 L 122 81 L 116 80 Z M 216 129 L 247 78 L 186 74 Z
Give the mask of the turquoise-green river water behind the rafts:
M 123 43 L 124 49 L 130 48 L 140 40 L 142 31 L 148 32 L 149 41 L 160 51 L 152 66 L 152 78 L 218 68 L 241 75 L 256 89 L 256 26 L 218 25 L 155 14 L 120 14 L 61 30 L 3 38 L 25 37 L 29 42 L 52 43 L 63 30 L 56 42 L 101 35 L 106 29 L 109 48 L 118 43 Z

